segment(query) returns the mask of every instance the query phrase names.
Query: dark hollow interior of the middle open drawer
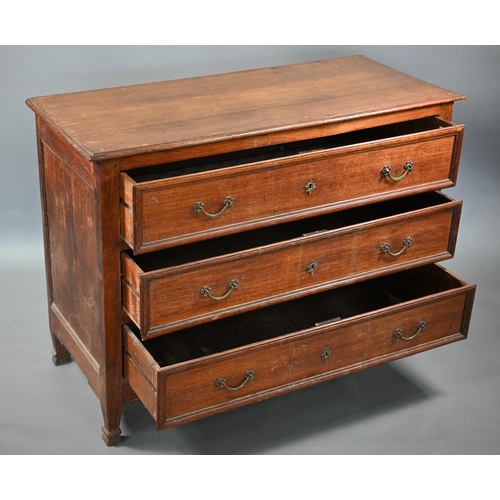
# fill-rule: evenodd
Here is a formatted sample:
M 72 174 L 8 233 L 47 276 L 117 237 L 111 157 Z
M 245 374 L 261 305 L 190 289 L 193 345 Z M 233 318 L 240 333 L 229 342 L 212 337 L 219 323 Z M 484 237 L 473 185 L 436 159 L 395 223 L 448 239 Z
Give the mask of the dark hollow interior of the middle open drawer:
M 272 245 L 280 241 L 301 238 L 318 232 L 330 231 L 429 207 L 436 207 L 446 204 L 449 201 L 450 198 L 439 192 L 428 192 L 311 219 L 214 238 L 209 241 L 168 248 L 150 254 L 134 256 L 131 250 L 127 250 L 126 253 L 143 272 L 150 272 L 156 269 L 178 266 L 188 262 L 209 259 L 264 245 Z

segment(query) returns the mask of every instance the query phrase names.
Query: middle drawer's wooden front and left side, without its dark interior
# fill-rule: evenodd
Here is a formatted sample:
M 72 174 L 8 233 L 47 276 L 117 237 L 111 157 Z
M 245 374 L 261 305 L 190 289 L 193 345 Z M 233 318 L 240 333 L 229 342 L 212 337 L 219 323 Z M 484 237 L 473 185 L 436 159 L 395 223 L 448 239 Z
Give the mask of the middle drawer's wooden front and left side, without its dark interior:
M 142 337 L 148 338 L 291 296 L 443 260 L 454 252 L 460 207 L 460 202 L 450 201 L 143 276 L 126 256 L 124 308 Z M 382 251 L 384 246 L 387 251 Z

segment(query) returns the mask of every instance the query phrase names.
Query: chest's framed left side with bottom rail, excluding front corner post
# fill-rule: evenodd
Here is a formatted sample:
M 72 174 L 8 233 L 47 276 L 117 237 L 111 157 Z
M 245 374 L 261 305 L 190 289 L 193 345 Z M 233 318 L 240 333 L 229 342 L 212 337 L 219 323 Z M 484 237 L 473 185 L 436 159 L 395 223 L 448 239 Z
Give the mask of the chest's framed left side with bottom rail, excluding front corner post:
M 58 365 L 74 359 L 101 397 L 105 361 L 92 165 L 68 152 L 64 141 L 38 119 L 37 136 L 53 361 Z

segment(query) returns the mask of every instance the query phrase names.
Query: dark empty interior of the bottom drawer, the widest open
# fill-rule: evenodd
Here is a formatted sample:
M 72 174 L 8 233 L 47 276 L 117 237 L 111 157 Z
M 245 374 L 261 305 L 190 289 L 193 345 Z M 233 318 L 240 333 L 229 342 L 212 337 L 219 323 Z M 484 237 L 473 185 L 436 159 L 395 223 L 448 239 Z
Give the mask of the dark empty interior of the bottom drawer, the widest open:
M 444 268 L 429 265 L 212 321 L 142 344 L 160 366 L 170 366 L 462 286 Z M 135 326 L 130 329 L 139 337 Z

